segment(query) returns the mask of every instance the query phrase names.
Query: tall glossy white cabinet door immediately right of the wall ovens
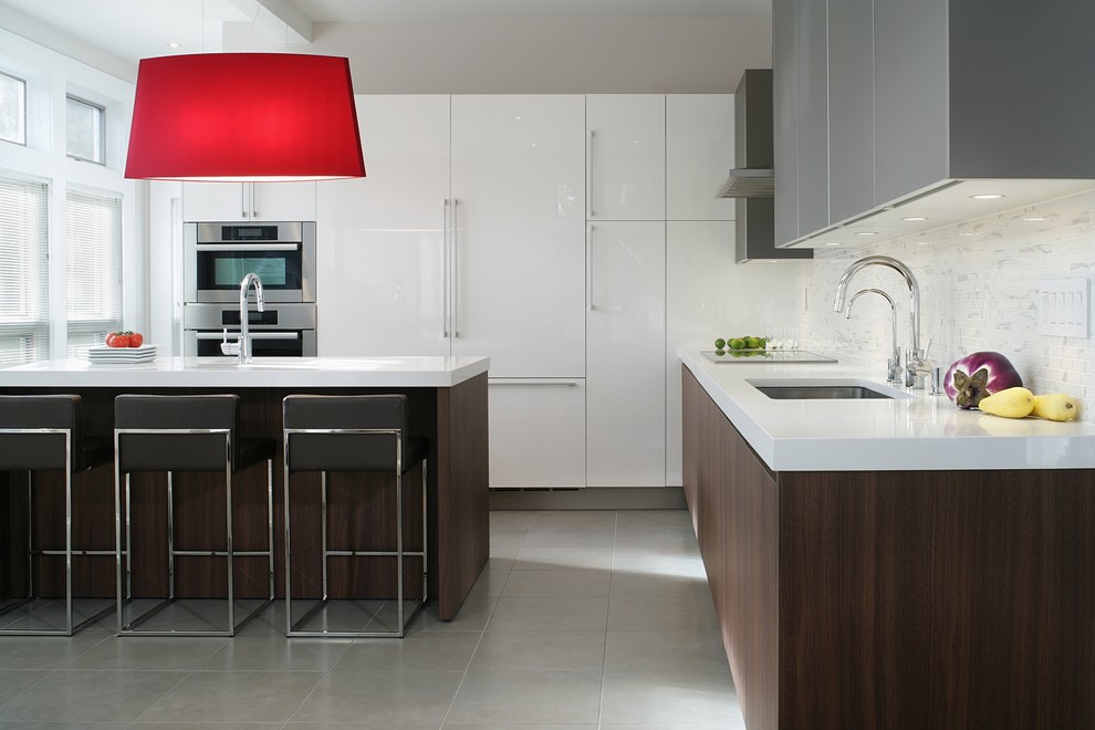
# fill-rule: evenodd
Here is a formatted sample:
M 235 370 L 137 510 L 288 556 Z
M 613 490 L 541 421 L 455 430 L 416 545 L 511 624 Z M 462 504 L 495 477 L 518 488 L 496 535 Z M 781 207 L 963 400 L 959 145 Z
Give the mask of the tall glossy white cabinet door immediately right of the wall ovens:
M 316 350 L 448 355 L 449 98 L 356 101 L 367 176 L 319 189 Z

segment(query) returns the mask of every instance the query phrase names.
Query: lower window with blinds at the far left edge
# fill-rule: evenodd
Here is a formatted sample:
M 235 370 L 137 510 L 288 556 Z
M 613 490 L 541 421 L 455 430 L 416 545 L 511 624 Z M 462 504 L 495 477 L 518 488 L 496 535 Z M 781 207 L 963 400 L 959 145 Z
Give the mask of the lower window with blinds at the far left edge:
M 0 176 L 0 366 L 50 356 L 49 187 Z

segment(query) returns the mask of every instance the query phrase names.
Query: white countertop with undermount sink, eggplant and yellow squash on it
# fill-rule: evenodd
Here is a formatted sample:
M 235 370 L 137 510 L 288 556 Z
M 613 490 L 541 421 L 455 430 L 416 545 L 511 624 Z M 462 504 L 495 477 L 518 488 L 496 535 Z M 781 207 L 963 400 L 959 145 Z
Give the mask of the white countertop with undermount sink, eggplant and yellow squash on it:
M 681 362 L 773 471 L 1095 469 L 1095 425 L 999 418 L 946 395 L 886 385 L 882 365 Z M 897 390 L 895 399 L 778 400 L 751 379 L 839 379 Z

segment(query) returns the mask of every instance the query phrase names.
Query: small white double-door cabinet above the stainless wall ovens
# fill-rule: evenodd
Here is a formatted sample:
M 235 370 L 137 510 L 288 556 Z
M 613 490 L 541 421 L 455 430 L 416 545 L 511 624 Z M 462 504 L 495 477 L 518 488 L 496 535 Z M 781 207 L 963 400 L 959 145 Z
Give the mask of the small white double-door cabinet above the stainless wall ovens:
M 315 182 L 184 182 L 182 220 L 315 220 Z

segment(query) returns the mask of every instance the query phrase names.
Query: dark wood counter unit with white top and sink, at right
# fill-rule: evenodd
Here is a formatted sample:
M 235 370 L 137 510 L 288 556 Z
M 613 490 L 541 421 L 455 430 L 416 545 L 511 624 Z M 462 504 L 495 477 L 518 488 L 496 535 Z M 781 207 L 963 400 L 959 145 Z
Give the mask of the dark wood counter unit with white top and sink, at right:
M 679 353 L 684 482 L 745 724 L 1095 727 L 1095 426 L 880 368 Z M 891 398 L 771 399 L 859 384 Z

